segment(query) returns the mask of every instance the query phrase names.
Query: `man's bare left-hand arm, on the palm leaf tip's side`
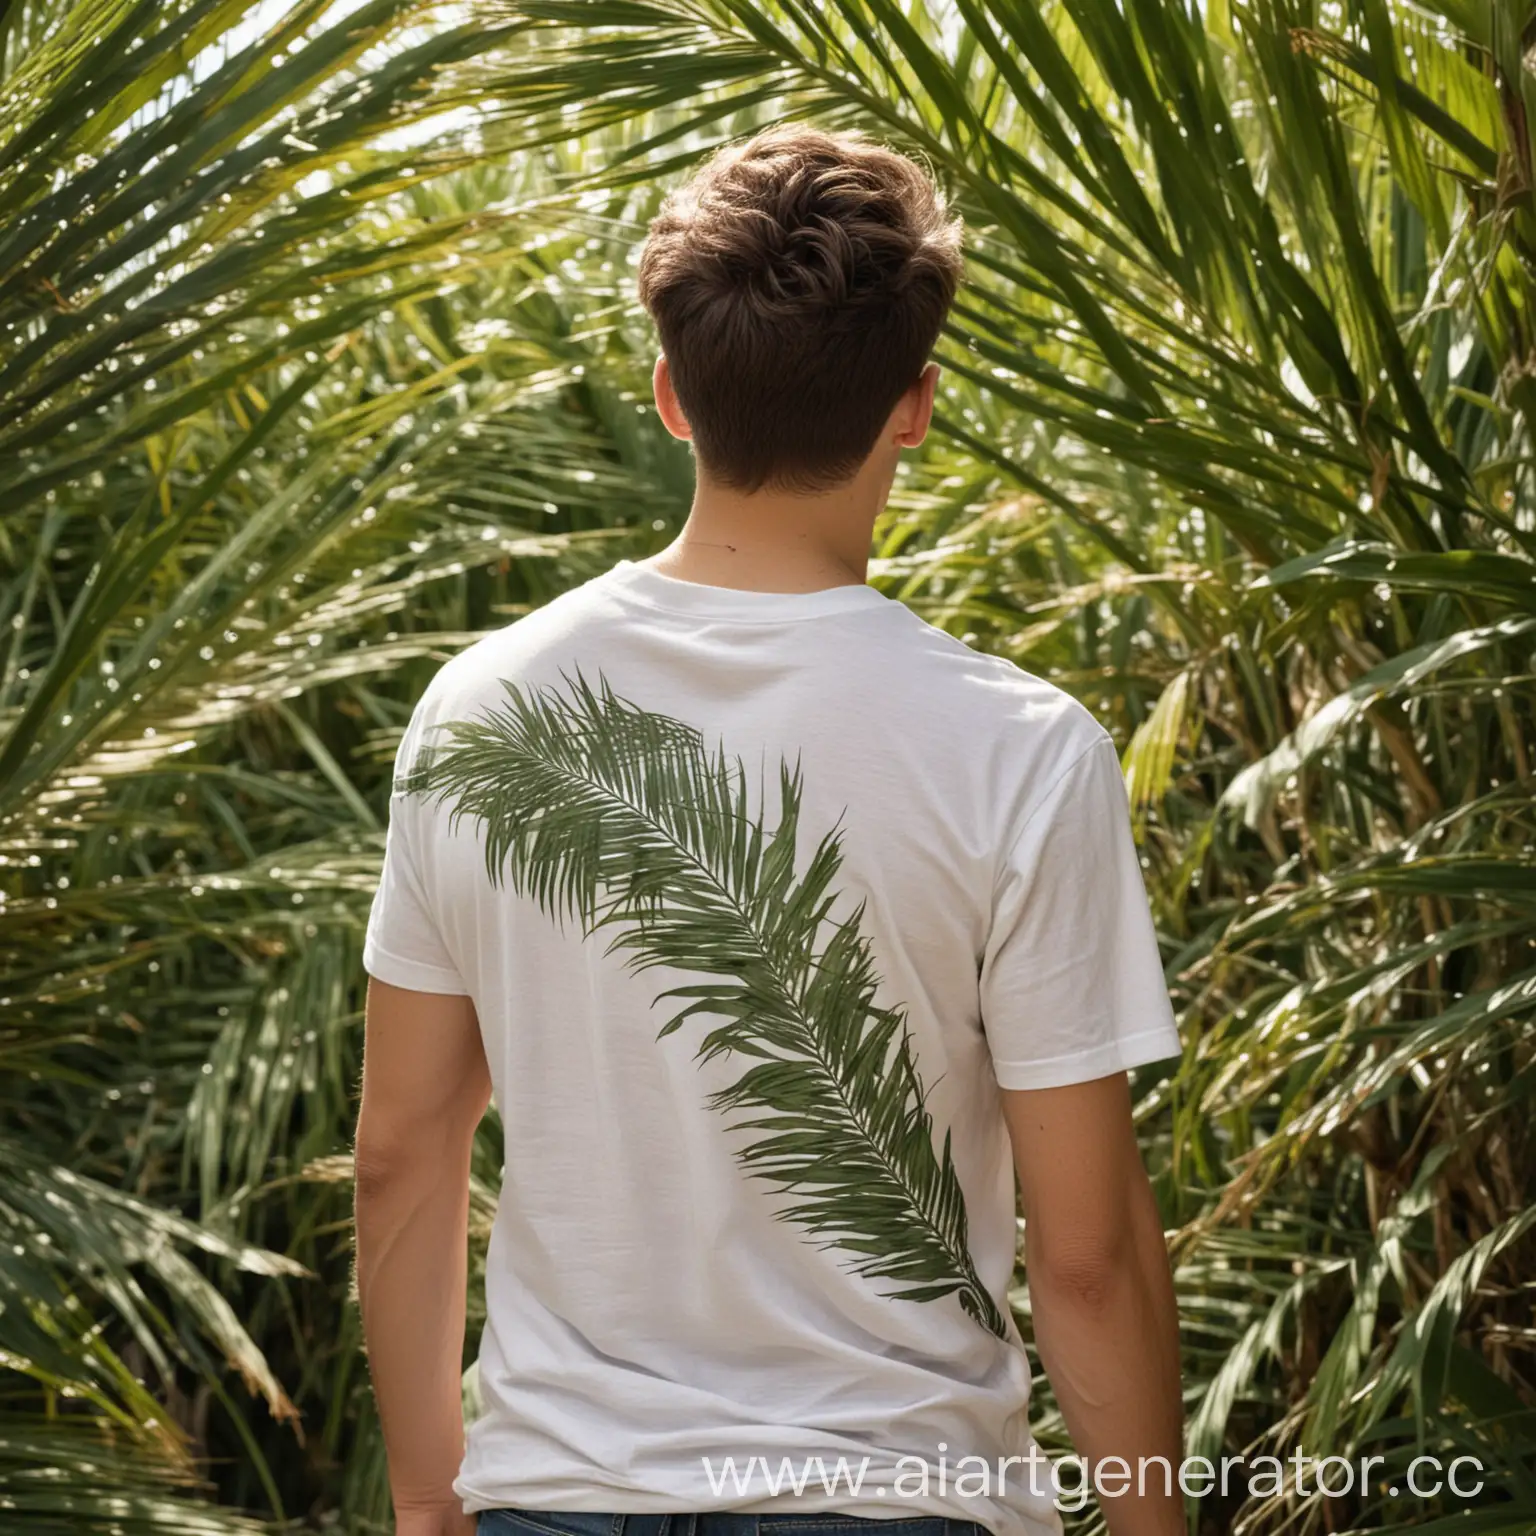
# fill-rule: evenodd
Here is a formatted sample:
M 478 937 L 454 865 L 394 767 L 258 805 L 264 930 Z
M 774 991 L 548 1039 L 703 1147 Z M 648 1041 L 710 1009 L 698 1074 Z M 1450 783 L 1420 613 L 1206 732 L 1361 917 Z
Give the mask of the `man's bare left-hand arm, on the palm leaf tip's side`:
M 459 1376 L 468 1172 L 490 1074 L 467 997 L 369 983 L 356 1141 L 358 1296 L 398 1536 L 467 1536 Z

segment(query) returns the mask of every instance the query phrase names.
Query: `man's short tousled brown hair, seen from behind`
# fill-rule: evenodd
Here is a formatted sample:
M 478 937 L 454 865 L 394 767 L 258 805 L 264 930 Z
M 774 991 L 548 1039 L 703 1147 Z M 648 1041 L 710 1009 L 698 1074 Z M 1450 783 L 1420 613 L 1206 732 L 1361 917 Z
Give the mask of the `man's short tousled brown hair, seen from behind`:
M 905 155 L 799 126 L 719 151 L 667 198 L 639 273 L 702 468 L 743 492 L 852 476 L 960 272 L 960 221 Z

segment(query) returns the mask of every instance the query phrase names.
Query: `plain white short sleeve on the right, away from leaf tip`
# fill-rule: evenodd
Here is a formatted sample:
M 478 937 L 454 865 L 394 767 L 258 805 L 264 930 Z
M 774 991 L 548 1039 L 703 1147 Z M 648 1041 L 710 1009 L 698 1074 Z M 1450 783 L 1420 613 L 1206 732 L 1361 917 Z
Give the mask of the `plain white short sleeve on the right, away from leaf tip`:
M 1107 736 L 1015 833 L 980 982 L 1001 1087 L 1063 1087 L 1180 1054 L 1126 782 Z

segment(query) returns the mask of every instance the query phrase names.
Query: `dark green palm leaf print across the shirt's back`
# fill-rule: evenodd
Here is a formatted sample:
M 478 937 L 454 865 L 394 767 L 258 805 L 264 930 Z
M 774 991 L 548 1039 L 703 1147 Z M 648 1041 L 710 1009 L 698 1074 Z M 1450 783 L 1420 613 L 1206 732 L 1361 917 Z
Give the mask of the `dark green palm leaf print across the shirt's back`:
M 671 1017 L 714 1020 L 699 1057 L 751 1064 L 710 1097 L 751 1134 L 736 1150 L 791 1195 L 777 1215 L 891 1283 L 908 1301 L 957 1296 L 1006 1338 L 966 1238 L 965 1198 L 932 1121 L 902 1009 L 882 1008 L 859 923 L 837 919 L 840 834 L 796 876 L 799 765 L 780 763 L 779 822 L 748 808 L 739 759 L 693 727 L 596 688 L 524 691 L 444 727 L 399 782 L 485 833 L 485 868 L 553 919 L 607 934 L 636 972 L 702 980 L 657 995 Z

